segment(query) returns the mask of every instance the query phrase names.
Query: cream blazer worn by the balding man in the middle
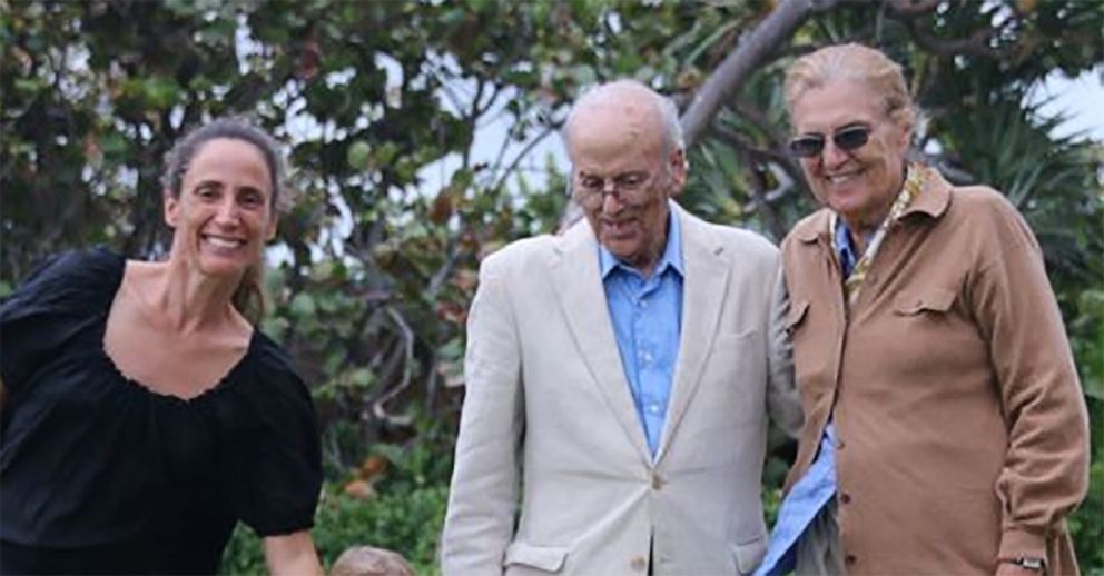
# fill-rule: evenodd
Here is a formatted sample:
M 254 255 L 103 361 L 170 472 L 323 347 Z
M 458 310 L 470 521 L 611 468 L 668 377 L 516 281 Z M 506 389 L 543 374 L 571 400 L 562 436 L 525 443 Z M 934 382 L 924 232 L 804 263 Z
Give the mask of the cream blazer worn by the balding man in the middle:
M 801 424 L 778 250 L 670 202 L 682 331 L 654 459 L 581 220 L 486 258 L 442 537 L 447 575 L 749 574 L 767 411 Z M 520 513 L 520 514 L 519 514 Z

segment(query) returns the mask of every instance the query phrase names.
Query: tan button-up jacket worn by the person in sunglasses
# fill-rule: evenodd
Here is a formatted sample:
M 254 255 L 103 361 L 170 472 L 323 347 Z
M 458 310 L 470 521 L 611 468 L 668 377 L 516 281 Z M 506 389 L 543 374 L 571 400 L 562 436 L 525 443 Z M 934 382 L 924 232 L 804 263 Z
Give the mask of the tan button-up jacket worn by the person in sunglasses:
M 934 170 L 849 315 L 828 211 L 782 242 L 807 420 L 787 487 L 835 406 L 851 574 L 1075 574 L 1088 421 L 1041 250 L 1003 196 Z

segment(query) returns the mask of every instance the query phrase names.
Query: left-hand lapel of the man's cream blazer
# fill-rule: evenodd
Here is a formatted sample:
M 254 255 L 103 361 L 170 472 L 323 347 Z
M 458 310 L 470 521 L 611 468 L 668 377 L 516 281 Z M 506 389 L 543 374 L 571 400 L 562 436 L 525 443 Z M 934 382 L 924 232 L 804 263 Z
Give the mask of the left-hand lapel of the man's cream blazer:
M 613 325 L 605 304 L 605 290 L 598 268 L 598 241 L 590 224 L 582 220 L 563 236 L 552 262 L 551 275 L 560 311 L 586 364 L 593 381 L 624 429 L 629 441 L 642 458 L 651 464 L 651 453 L 644 439 L 643 426 L 637 416 L 621 365 Z

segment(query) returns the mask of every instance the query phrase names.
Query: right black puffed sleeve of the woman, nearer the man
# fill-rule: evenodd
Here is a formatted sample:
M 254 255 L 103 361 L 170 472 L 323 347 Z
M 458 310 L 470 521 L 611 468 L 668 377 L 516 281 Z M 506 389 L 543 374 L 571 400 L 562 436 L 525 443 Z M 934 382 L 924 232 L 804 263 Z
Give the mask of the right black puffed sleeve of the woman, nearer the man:
M 235 417 L 248 424 L 228 439 L 228 493 L 237 516 L 264 536 L 310 528 L 322 488 L 314 406 L 290 359 L 275 342 L 253 359 Z

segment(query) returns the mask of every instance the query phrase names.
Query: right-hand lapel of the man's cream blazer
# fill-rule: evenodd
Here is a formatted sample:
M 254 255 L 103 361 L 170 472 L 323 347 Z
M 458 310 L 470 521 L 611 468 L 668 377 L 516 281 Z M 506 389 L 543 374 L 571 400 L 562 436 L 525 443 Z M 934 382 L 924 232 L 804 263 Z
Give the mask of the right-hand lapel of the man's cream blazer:
M 728 291 L 729 264 L 722 257 L 723 245 L 706 222 L 690 216 L 671 202 L 682 227 L 682 330 L 679 356 L 671 383 L 671 399 L 667 407 L 663 435 L 655 461 L 667 453 L 671 435 L 678 428 L 693 398 L 706 359 L 717 337 L 724 295 Z

